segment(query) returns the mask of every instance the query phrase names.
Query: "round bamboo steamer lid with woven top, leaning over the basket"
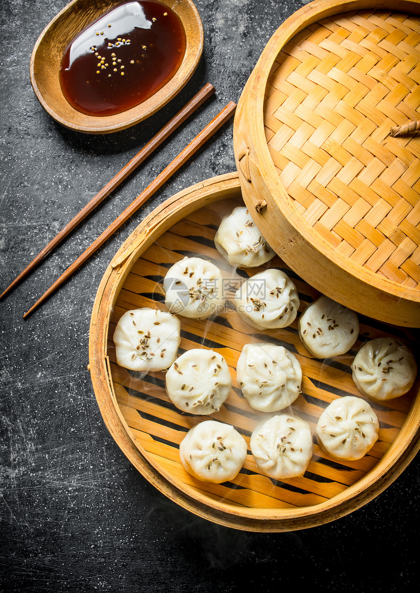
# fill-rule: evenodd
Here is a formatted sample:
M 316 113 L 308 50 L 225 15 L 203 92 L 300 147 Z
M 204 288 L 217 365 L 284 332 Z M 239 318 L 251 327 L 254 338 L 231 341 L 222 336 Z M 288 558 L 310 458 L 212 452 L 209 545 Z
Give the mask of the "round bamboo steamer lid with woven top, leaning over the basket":
M 418 0 L 317 0 L 264 48 L 234 151 L 274 250 L 358 313 L 420 327 Z

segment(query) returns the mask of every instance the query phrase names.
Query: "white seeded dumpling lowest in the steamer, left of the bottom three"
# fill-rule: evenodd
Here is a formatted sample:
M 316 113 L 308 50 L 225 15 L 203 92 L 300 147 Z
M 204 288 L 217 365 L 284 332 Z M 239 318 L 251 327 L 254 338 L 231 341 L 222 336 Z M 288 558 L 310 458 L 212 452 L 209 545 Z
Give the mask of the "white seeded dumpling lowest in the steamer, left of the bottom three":
M 202 482 L 233 480 L 247 458 L 247 443 L 233 426 L 205 420 L 194 426 L 179 445 L 186 471 Z

